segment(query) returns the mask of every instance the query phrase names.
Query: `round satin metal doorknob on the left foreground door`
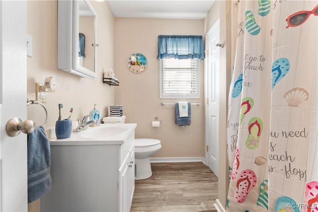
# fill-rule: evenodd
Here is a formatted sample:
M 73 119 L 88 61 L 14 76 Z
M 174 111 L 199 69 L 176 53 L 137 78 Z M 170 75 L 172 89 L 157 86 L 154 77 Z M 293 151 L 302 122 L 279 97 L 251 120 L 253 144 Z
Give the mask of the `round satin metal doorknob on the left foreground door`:
M 17 136 L 21 133 L 30 134 L 34 131 L 36 125 L 32 120 L 22 122 L 20 118 L 14 117 L 10 119 L 5 126 L 6 133 L 11 136 Z

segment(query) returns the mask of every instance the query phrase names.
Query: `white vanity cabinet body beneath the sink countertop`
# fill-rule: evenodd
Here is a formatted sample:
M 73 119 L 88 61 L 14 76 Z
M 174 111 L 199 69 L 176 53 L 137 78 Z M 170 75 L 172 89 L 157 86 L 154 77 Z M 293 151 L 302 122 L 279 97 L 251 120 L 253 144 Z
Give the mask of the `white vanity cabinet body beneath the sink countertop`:
M 52 188 L 41 212 L 129 212 L 135 188 L 135 128 L 124 141 L 51 141 Z

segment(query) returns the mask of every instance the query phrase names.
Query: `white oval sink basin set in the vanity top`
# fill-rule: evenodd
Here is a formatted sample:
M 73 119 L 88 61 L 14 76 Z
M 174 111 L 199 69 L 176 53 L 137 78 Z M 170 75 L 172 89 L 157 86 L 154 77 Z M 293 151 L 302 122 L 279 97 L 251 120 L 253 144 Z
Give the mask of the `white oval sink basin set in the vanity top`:
M 95 138 L 107 138 L 111 136 L 116 136 L 127 131 L 128 128 L 124 126 L 109 126 L 102 125 L 97 127 L 91 127 L 87 130 L 80 132 L 80 137 L 87 139 Z

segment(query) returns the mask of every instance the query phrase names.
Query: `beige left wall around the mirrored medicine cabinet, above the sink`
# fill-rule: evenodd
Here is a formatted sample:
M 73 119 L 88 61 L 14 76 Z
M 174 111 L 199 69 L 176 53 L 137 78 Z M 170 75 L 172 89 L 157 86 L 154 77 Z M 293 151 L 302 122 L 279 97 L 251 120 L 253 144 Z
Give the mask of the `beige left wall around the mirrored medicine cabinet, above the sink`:
M 103 69 L 115 68 L 115 20 L 107 1 L 91 1 L 91 4 L 98 14 L 96 80 L 57 69 L 57 0 L 27 2 L 27 33 L 32 36 L 33 42 L 33 56 L 27 58 L 28 99 L 36 98 L 36 82 L 43 83 L 47 76 L 53 76 L 56 83 L 56 91 L 47 93 L 47 103 L 44 104 L 49 115 L 46 129 L 55 127 L 59 117 L 59 103 L 64 105 L 62 118 L 67 118 L 70 108 L 74 108 L 73 122 L 88 115 L 94 103 L 98 104 L 101 117 L 107 115 L 107 106 L 114 104 L 114 86 L 102 83 L 102 72 Z M 38 125 L 42 125 L 44 116 L 41 106 L 28 106 L 28 119 L 34 119 Z M 29 204 L 29 212 L 31 211 L 39 211 L 39 201 Z

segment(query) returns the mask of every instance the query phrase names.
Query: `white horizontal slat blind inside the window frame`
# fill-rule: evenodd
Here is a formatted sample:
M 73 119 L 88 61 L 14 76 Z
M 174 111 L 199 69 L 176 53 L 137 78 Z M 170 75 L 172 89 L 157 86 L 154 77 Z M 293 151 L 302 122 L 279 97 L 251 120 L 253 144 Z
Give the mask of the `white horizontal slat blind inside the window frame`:
M 163 95 L 197 94 L 197 59 L 163 60 Z

